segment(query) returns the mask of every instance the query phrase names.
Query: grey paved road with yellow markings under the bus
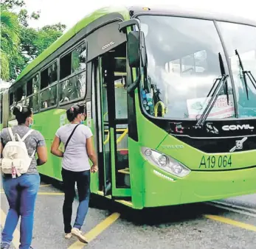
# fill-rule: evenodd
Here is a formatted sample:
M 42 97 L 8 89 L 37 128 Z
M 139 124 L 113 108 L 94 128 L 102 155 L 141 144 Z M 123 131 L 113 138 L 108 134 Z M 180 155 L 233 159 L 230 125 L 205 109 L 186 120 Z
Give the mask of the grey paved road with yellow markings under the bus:
M 55 186 L 41 183 L 32 246 L 35 249 L 255 249 L 256 194 L 221 201 L 228 203 L 228 208 L 235 204 L 250 211 L 241 214 L 236 211 L 241 211 L 239 208 L 229 211 L 205 203 L 134 211 L 94 197 L 83 226 L 91 241 L 83 246 L 75 238 L 63 239 L 63 194 Z M 1 214 L 2 211 L 7 214 L 4 194 L 1 194 Z M 13 248 L 15 245 L 18 248 L 17 236 L 18 231 Z

